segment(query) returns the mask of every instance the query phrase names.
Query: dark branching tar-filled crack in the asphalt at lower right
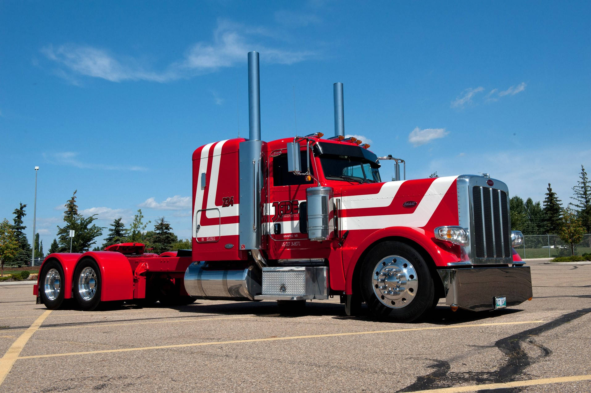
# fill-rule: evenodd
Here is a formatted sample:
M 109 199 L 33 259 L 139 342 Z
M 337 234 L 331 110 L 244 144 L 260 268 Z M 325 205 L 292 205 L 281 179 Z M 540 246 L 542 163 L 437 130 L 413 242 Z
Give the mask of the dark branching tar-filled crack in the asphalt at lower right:
M 561 326 L 564 323 L 573 321 L 588 313 L 591 313 L 591 308 L 576 310 L 572 313 L 564 314 L 563 316 L 558 317 L 557 319 L 548 323 L 544 323 L 538 327 L 524 330 L 522 332 L 515 333 L 512 336 L 505 337 L 504 339 L 497 340 L 494 346 L 498 347 L 498 349 L 504 353 L 506 362 L 495 371 L 450 372 L 449 362 L 439 359 L 426 359 L 434 362 L 432 365 L 427 366 L 427 368 L 433 368 L 435 371 L 428 373 L 427 375 L 418 376 L 413 384 L 398 390 L 398 392 L 450 388 L 458 384 L 466 383 L 494 384 L 499 382 L 515 381 L 517 376 L 522 375 L 525 368 L 540 359 L 547 358 L 552 353 L 552 351 L 547 347 L 535 342 L 533 338 L 534 336 L 548 332 L 548 330 Z M 527 342 L 530 345 L 538 347 L 541 350 L 541 355 L 537 358 L 531 358 L 522 348 L 522 342 Z M 479 390 L 480 393 L 493 391 L 495 393 L 517 393 L 521 392 L 522 388 Z

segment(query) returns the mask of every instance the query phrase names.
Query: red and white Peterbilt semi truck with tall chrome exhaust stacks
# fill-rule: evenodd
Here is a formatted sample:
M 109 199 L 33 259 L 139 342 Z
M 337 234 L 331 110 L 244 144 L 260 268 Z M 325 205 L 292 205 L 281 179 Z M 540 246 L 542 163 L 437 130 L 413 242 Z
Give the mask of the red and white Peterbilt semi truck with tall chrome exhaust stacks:
M 514 258 L 505 183 L 488 175 L 417 180 L 402 160 L 346 138 L 342 84 L 335 136 L 315 132 L 264 142 L 258 53 L 248 54 L 249 138 L 193 152 L 192 248 L 161 255 L 139 243 L 85 254 L 50 254 L 34 293 L 83 310 L 103 302 L 187 304 L 195 299 L 276 300 L 299 307 L 339 296 L 363 311 L 407 322 L 440 298 L 457 310 L 531 300 L 530 268 Z M 392 181 L 381 177 L 393 160 Z M 405 177 L 405 176 L 404 176 Z

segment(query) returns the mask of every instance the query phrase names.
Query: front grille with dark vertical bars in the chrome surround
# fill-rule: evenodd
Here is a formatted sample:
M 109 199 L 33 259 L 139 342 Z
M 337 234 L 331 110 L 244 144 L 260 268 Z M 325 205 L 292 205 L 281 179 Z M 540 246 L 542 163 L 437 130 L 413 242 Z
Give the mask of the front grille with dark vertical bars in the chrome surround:
M 511 230 L 505 191 L 472 187 L 472 206 L 476 258 L 511 257 Z

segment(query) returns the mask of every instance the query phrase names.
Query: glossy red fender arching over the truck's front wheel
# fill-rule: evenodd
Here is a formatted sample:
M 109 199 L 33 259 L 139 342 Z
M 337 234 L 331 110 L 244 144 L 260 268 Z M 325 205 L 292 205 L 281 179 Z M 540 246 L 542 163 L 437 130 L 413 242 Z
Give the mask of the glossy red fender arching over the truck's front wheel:
M 447 266 L 448 262 L 458 262 L 460 260 L 459 248 L 457 249 L 457 252 L 453 252 L 455 247 L 451 244 L 449 245 L 449 248 L 443 248 L 443 244 L 439 245 L 434 242 L 434 234 L 427 233 L 423 228 L 391 226 L 389 228 L 376 230 L 361 242 L 353 253 L 353 256 L 349 259 L 349 265 L 346 267 L 346 294 L 353 293 L 353 272 L 355 271 L 355 265 L 358 262 L 362 262 L 359 259 L 363 252 L 379 240 L 391 238 L 393 236 L 409 239 L 423 247 L 431 258 L 433 258 L 433 261 L 437 266 Z

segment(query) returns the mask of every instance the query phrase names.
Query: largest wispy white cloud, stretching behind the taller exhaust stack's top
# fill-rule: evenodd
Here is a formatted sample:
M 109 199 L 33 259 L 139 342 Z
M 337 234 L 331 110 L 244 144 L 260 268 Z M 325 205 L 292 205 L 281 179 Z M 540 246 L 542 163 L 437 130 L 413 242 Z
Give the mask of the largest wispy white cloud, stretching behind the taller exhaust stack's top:
M 273 34 L 264 28 L 220 20 L 213 31 L 212 41 L 193 44 L 187 49 L 183 59 L 169 64 L 163 70 L 154 70 L 151 64 L 145 64 L 131 56 L 113 54 L 103 48 L 85 45 L 63 44 L 54 47 L 50 44 L 41 52 L 47 59 L 60 64 L 62 68 L 57 69 L 56 74 L 74 85 L 79 85 L 79 82 L 72 73 L 111 82 L 168 82 L 243 64 L 246 61 L 246 53 L 253 48 L 262 53 L 261 60 L 267 63 L 293 64 L 314 55 L 311 51 L 266 46 L 261 43 L 264 38 L 274 40 Z

